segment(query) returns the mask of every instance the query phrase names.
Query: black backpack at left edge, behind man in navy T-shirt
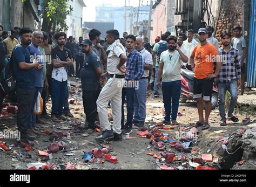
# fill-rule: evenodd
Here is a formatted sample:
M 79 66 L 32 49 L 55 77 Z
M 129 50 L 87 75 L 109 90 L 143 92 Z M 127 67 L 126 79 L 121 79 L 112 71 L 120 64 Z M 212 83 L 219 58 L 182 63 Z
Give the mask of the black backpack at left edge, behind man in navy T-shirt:
M 13 57 L 11 55 L 11 59 L 7 66 L 3 68 L 0 77 L 0 85 L 6 94 L 15 91 L 16 88 L 16 75 L 14 72 L 14 63 L 12 59 Z

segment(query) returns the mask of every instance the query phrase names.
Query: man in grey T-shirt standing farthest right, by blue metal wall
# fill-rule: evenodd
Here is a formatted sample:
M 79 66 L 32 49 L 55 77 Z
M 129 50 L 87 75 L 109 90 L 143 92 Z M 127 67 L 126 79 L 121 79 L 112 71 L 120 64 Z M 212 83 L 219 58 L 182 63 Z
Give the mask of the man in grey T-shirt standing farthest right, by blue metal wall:
M 241 36 L 241 26 L 234 26 L 234 35 L 235 38 L 233 39 L 233 47 L 239 51 L 239 57 L 241 60 L 241 95 L 244 95 L 245 89 L 245 77 L 246 77 L 246 40 L 244 37 Z

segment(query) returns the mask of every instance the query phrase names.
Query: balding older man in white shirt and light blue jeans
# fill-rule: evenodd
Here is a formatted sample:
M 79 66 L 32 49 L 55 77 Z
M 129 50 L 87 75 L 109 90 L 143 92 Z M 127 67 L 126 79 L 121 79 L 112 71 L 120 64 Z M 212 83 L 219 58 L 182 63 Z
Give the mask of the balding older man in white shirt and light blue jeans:
M 134 94 L 134 119 L 133 124 L 143 127 L 146 119 L 147 86 L 149 85 L 149 71 L 153 68 L 153 60 L 149 51 L 144 48 L 142 37 L 136 37 L 136 50 L 142 55 L 144 73 L 139 79 L 139 87 Z

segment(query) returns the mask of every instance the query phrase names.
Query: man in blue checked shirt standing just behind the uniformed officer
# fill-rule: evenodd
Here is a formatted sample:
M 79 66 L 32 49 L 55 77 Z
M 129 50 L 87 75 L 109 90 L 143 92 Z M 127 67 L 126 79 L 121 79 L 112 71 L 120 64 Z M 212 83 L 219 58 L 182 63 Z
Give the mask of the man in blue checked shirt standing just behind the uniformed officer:
M 132 131 L 132 119 L 134 114 L 134 93 L 138 85 L 139 79 L 143 75 L 143 59 L 141 54 L 134 49 L 136 37 L 129 35 L 126 37 L 126 71 L 129 75 L 125 77 L 125 88 L 122 92 L 122 126 L 124 126 L 124 101 L 126 95 L 127 122 L 125 124 L 123 134 L 130 134 Z

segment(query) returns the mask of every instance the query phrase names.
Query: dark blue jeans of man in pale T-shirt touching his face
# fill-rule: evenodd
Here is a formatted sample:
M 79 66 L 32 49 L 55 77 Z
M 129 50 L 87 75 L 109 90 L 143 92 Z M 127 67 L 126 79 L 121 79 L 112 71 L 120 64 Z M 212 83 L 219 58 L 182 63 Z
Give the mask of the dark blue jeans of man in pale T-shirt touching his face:
M 162 91 L 165 108 L 165 121 L 171 121 L 171 112 L 172 120 L 177 120 L 181 91 L 181 80 L 162 82 Z

